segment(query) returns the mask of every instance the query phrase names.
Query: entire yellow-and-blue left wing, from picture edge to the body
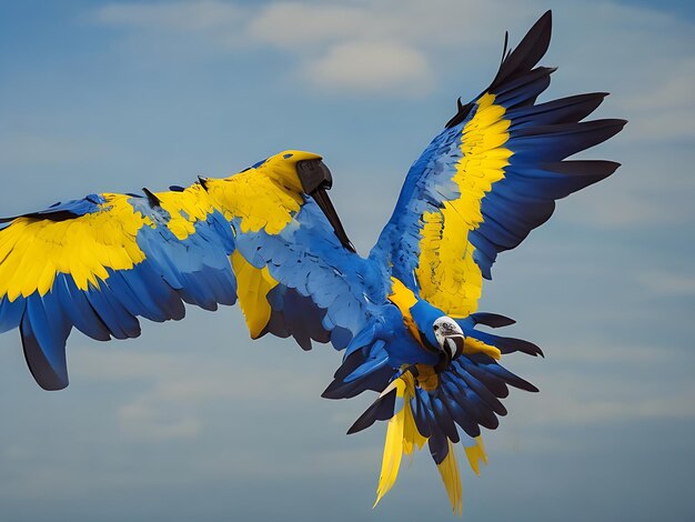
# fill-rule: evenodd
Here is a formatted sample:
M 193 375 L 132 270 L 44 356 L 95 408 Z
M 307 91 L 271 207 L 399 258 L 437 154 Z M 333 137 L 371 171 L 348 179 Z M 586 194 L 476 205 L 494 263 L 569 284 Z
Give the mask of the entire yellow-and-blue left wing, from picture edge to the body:
M 73 327 L 98 340 L 133 338 L 139 317 L 182 319 L 184 302 L 215 310 L 239 298 L 252 337 L 346 344 L 370 291 L 360 258 L 302 192 L 296 162 L 318 158 L 288 151 L 187 189 L 92 194 L 2 220 L 0 332 L 19 328 L 49 390 L 68 385 Z

